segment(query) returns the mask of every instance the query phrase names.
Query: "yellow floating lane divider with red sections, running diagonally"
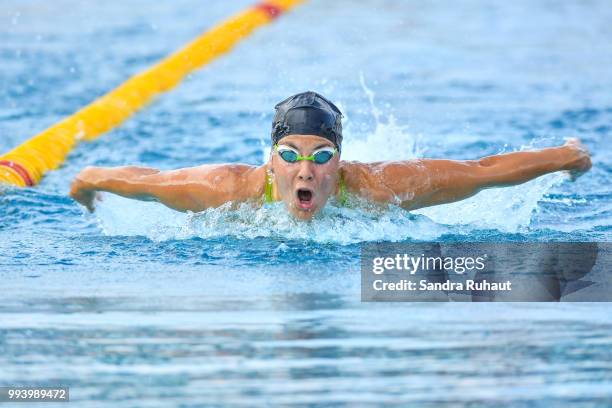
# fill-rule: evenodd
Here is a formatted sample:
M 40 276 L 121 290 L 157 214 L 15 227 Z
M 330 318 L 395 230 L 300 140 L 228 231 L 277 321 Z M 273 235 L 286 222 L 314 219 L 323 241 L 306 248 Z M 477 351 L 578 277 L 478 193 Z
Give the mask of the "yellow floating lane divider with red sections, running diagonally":
M 31 187 L 58 168 L 81 140 L 93 140 L 117 127 L 158 94 L 230 51 L 256 28 L 304 0 L 267 0 L 205 32 L 184 48 L 134 75 L 72 116 L 0 156 L 0 183 Z

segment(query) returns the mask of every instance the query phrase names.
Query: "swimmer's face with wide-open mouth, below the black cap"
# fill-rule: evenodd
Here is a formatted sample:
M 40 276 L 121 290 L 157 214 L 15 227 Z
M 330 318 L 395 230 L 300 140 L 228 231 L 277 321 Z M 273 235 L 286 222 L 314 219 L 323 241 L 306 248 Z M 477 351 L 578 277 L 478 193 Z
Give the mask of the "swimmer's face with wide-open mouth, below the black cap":
M 329 140 L 314 135 L 290 135 L 283 137 L 278 144 L 293 148 L 301 156 L 310 156 L 321 148 L 335 147 Z M 310 220 L 325 206 L 329 196 L 336 193 L 339 162 L 339 154 L 335 154 L 324 164 L 310 160 L 288 163 L 272 149 L 270 167 L 276 188 L 294 217 Z

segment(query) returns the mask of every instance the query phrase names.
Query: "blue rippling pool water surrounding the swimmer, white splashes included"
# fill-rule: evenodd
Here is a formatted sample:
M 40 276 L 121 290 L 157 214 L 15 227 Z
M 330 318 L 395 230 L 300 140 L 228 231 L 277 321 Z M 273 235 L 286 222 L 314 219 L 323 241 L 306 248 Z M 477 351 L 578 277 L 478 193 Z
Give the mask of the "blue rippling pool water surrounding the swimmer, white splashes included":
M 0 152 L 250 1 L 0 3 Z M 361 303 L 360 244 L 612 238 L 612 8 L 313 0 L 33 189 L 0 195 L 0 385 L 79 407 L 612 404 L 608 304 Z M 177 213 L 67 197 L 87 165 L 261 164 L 273 106 L 316 90 L 343 158 L 472 159 L 579 136 L 593 169 L 407 213 Z

